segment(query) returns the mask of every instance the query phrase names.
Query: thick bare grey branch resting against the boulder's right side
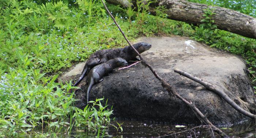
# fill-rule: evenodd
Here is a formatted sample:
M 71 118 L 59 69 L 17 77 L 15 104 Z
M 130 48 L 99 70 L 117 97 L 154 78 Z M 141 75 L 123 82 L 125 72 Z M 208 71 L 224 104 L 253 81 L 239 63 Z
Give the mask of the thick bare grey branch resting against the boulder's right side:
M 216 86 L 204 81 L 203 79 L 197 78 L 185 71 L 182 71 L 180 69 L 174 69 L 174 72 L 185 76 L 199 84 L 202 84 L 206 89 L 214 92 L 215 94 L 219 95 L 221 98 L 223 98 L 227 103 L 229 103 L 234 109 L 236 109 L 239 113 L 246 115 L 247 117 L 250 117 L 252 119 L 256 119 L 256 115 L 252 114 L 244 109 L 242 109 L 239 105 L 237 105 L 231 98 L 229 98 L 229 96 L 227 96 L 226 93 L 222 92 L 221 90 L 217 89 Z

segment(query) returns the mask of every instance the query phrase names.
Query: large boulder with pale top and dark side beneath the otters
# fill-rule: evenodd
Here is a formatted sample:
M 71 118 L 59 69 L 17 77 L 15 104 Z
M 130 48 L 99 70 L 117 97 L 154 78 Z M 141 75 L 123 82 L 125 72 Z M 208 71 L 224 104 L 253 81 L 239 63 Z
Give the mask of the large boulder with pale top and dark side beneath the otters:
M 238 56 L 209 48 L 185 37 L 142 37 L 152 48 L 142 53 L 147 62 L 178 93 L 192 101 L 214 124 L 230 125 L 248 119 L 215 93 L 189 80 L 173 69 L 184 70 L 223 90 L 245 110 L 255 113 L 255 96 L 247 76 L 245 62 Z M 78 78 L 84 62 L 60 79 Z M 75 71 L 76 70 L 76 71 Z M 75 77 L 74 77 L 75 76 Z M 75 79 L 74 79 L 75 80 Z M 76 91 L 76 106 L 86 106 L 86 83 Z M 104 77 L 95 84 L 89 100 L 105 97 L 114 115 L 125 119 L 143 119 L 171 123 L 200 123 L 193 111 L 181 100 L 170 97 L 148 68 L 137 64 Z

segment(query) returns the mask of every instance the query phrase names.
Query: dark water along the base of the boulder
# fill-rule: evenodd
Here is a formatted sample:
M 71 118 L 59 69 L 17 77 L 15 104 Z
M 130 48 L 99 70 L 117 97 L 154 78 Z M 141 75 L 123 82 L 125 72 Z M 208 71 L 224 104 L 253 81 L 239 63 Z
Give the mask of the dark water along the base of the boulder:
M 164 136 L 168 134 L 177 133 L 183 130 L 191 129 L 195 127 L 194 125 L 185 125 L 185 127 L 175 127 L 175 125 L 170 125 L 167 123 L 152 123 L 152 122 L 142 122 L 142 121 L 126 121 L 117 120 L 117 122 L 123 122 L 123 132 L 117 133 L 114 127 L 110 127 L 106 134 L 106 137 L 121 137 L 121 138 L 156 138 L 159 136 Z M 113 125 L 117 126 L 117 124 Z M 256 138 L 256 125 L 252 122 L 244 122 L 240 125 L 233 126 L 218 126 L 232 138 Z M 197 128 L 193 131 L 187 131 L 176 135 L 177 138 L 210 138 L 210 129 L 207 128 Z M 120 131 L 119 131 L 120 132 Z M 88 137 L 82 131 L 73 131 L 70 135 L 71 137 Z M 95 136 L 91 136 L 95 137 Z M 170 136 L 175 137 L 175 136 Z M 219 138 L 217 133 L 214 133 L 215 138 Z

